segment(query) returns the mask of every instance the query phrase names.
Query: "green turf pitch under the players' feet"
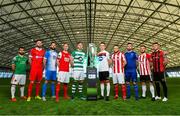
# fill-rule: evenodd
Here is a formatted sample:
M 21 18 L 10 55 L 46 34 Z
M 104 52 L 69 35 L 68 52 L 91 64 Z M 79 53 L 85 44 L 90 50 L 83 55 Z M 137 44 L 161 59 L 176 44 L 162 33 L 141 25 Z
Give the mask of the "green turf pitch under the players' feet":
M 111 85 L 110 101 L 83 101 L 78 97 L 73 101 L 64 100 L 61 87 L 59 103 L 50 98 L 50 88 L 47 91 L 46 102 L 35 99 L 30 102 L 20 100 L 17 89 L 16 98 L 18 101 L 13 103 L 10 101 L 10 79 L 0 79 L 0 115 L 180 115 L 180 78 L 167 79 L 167 85 L 169 96 L 167 102 L 151 101 L 149 89 L 147 89 L 148 97 L 146 99 L 135 101 L 133 88 L 130 100 L 122 101 L 121 98 L 114 100 L 113 85 Z M 27 88 L 25 90 L 27 92 Z M 140 86 L 139 91 L 139 95 L 141 95 Z M 71 87 L 69 95 L 70 93 Z

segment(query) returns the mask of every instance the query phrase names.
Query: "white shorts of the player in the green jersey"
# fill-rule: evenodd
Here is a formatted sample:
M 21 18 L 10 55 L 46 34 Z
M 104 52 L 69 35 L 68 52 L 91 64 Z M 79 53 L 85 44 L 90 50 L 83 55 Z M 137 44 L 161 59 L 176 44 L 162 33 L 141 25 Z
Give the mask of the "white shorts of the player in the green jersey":
M 24 75 L 24 74 L 14 74 L 12 79 L 11 79 L 11 84 L 25 85 L 26 84 L 26 75 Z

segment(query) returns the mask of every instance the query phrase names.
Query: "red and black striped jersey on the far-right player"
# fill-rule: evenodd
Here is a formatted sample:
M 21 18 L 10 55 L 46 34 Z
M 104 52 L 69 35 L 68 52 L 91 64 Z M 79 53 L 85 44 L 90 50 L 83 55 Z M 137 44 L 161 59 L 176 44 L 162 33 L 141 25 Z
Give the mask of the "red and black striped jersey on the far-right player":
M 154 72 L 164 72 L 164 52 L 162 50 L 158 50 L 151 54 L 152 62 L 153 62 L 153 71 Z

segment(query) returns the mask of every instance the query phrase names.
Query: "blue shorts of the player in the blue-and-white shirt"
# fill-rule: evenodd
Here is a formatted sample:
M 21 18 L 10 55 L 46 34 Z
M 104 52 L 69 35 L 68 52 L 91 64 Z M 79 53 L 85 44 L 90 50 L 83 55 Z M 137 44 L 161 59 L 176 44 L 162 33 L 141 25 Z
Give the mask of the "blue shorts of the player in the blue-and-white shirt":
M 56 81 L 56 75 L 57 75 L 57 72 L 56 71 L 48 71 L 46 70 L 46 73 L 45 73 L 45 79 L 48 80 L 48 81 Z

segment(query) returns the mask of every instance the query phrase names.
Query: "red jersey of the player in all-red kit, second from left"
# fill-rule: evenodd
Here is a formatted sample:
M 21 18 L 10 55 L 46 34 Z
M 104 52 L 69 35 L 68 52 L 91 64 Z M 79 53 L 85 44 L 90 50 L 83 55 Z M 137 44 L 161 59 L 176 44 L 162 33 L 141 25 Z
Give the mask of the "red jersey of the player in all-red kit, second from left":
M 33 48 L 30 51 L 29 57 L 31 58 L 31 68 L 43 68 L 43 58 L 45 50 Z

